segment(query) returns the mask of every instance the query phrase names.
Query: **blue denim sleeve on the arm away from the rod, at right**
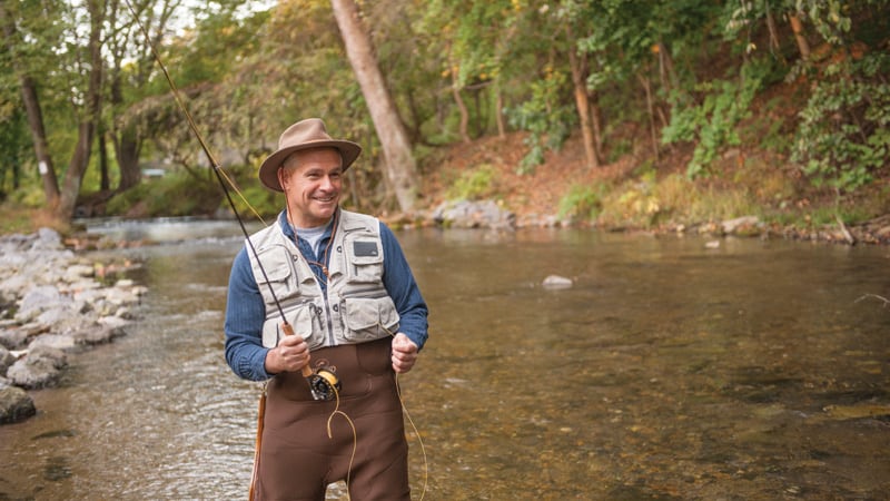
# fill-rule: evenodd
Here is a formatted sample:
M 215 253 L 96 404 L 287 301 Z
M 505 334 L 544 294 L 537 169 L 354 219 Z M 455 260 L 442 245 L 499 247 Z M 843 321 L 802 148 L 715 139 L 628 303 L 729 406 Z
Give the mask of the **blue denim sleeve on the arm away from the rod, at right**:
M 384 272 L 383 283 L 400 317 L 398 331 L 404 333 L 418 348 L 423 348 L 428 337 L 429 314 L 421 288 L 414 279 L 408 261 L 393 230 L 380 222 L 383 240 Z

